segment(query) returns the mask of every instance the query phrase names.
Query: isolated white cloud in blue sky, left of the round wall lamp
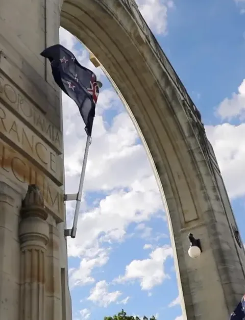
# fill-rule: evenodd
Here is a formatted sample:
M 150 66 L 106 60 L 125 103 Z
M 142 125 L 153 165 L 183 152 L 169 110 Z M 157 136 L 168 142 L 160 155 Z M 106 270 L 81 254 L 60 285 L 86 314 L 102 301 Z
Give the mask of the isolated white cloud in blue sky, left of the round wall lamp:
M 149 259 L 133 260 L 126 266 L 125 275 L 119 276 L 115 282 L 124 283 L 138 279 L 142 290 L 150 290 L 169 277 L 164 272 L 164 262 L 171 256 L 173 251 L 168 245 L 157 248 L 152 251 Z

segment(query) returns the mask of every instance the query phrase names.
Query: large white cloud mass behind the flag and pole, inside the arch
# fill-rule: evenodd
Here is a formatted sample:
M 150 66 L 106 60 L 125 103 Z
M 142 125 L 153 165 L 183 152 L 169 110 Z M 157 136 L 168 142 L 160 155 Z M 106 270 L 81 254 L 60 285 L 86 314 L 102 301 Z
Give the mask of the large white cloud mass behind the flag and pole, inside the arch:
M 104 77 L 100 69 L 88 60 L 85 50 L 75 47 L 76 39 L 60 29 L 61 44 L 72 50 L 78 60 Z M 84 155 L 86 133 L 77 105 L 65 94 L 63 100 L 64 159 L 66 193 L 78 191 Z M 117 111 L 112 123 L 104 119 L 108 109 Z M 162 201 L 152 175 L 150 163 L 129 115 L 124 111 L 117 94 L 108 88 L 101 90 L 94 118 L 92 144 L 84 182 L 78 232 L 75 239 L 68 238 L 68 255 L 81 257 L 78 268 L 70 270 L 72 286 L 92 283 L 92 270 L 108 261 L 112 241 L 122 241 L 130 223 L 140 223 L 162 209 Z M 90 208 L 86 203 L 88 191 L 105 192 L 102 200 L 94 200 Z M 68 224 L 74 214 L 74 203 L 67 202 Z M 94 207 L 93 207 L 94 206 Z M 150 232 L 147 228 L 144 232 Z

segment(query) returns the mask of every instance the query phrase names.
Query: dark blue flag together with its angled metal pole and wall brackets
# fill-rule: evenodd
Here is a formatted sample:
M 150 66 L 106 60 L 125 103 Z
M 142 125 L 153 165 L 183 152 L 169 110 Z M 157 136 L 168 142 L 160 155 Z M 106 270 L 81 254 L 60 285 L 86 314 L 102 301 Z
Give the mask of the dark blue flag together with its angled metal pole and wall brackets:
M 61 44 L 55 44 L 45 48 L 40 55 L 50 60 L 55 82 L 61 90 L 78 105 L 80 114 L 86 125 L 85 131 L 87 133 L 87 141 L 78 193 L 64 194 L 64 201 L 77 201 L 72 228 L 64 230 L 66 237 L 70 236 L 71 238 L 75 238 L 82 199 L 85 170 L 88 160 L 88 150 L 89 145 L 91 144 L 91 132 L 95 114 L 94 110 L 99 96 L 99 88 L 102 87 L 102 83 L 97 81 L 95 74 L 86 67 L 83 67 L 78 62 L 74 54 Z M 88 96 L 89 104 L 87 100 Z

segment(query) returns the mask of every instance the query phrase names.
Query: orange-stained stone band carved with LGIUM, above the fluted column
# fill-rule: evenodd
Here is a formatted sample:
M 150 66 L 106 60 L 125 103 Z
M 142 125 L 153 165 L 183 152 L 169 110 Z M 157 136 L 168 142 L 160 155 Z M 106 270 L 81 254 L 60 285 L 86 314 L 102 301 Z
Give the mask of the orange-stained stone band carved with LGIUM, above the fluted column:
M 29 184 L 36 184 L 42 193 L 45 207 L 58 222 L 64 220 L 63 190 L 1 139 L 0 172 L 18 185 L 27 187 Z

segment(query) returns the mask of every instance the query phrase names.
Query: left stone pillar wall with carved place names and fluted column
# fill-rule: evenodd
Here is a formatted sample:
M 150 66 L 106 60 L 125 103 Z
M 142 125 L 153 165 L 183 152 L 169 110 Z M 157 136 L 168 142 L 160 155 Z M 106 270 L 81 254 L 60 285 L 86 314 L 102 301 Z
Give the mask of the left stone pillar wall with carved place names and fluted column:
M 40 56 L 59 0 L 0 2 L 0 319 L 71 320 L 60 91 Z

